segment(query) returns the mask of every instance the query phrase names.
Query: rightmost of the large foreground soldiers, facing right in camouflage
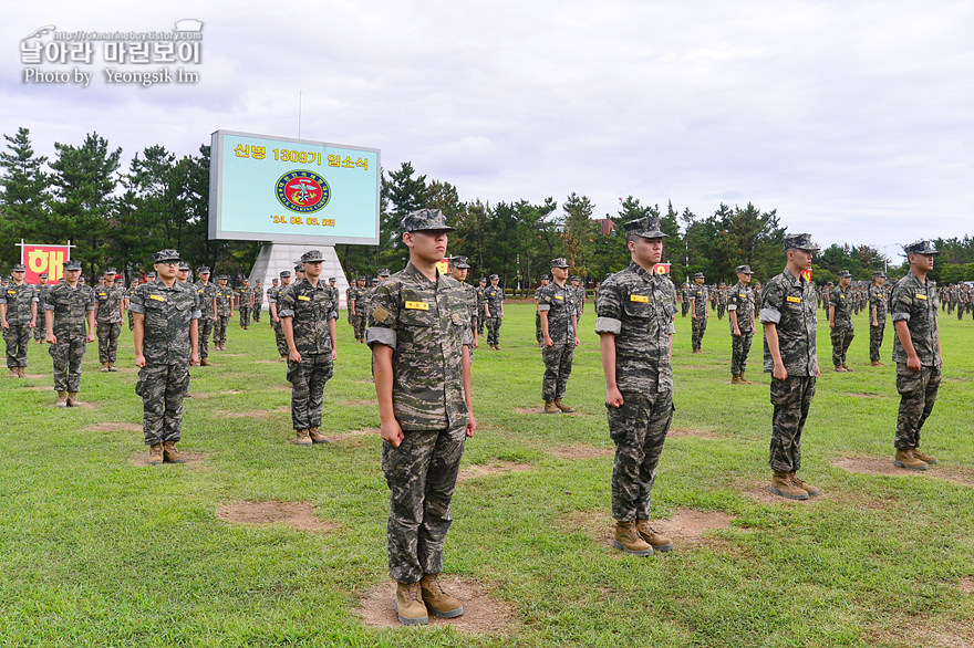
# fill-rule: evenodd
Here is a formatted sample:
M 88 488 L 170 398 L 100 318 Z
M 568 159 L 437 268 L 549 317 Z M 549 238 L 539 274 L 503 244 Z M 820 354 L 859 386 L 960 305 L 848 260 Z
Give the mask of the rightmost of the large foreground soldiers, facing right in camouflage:
M 936 457 L 920 451 L 920 430 L 933 411 L 940 388 L 943 355 L 936 323 L 936 283 L 926 279 L 939 254 L 930 241 L 903 247 L 910 272 L 897 282 L 890 297 L 890 316 L 897 328 L 893 362 L 897 363 L 897 448 L 893 463 L 910 470 L 926 470 Z

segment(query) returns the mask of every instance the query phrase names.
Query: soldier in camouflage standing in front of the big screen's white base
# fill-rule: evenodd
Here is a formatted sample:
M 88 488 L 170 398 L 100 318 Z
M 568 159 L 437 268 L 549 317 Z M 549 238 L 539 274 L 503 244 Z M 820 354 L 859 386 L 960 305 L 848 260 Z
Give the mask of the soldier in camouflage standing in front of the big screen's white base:
M 325 443 L 321 433 L 324 384 L 334 373 L 338 358 L 339 304 L 335 293 L 321 281 L 324 258 L 319 250 L 301 255 L 304 279 L 278 301 L 278 316 L 288 343 L 288 382 L 291 421 L 298 446 Z

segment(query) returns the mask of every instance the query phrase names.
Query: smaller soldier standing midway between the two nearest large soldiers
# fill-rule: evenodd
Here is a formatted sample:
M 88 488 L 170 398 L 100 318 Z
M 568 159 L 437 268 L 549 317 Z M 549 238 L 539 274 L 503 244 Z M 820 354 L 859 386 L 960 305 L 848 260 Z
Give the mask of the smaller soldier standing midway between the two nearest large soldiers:
M 561 399 L 571 376 L 571 360 L 574 347 L 581 344 L 578 336 L 578 306 L 574 300 L 578 291 L 564 285 L 568 279 L 568 261 L 551 260 L 551 276 L 555 281 L 540 289 L 538 311 L 541 314 L 541 359 L 545 362 L 545 377 L 541 379 L 541 398 L 545 414 L 573 411 Z

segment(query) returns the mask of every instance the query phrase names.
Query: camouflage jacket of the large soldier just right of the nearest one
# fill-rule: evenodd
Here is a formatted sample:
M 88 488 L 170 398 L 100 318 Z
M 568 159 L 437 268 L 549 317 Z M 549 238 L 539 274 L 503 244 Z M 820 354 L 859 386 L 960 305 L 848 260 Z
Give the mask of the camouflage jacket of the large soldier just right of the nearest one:
M 670 336 L 675 332 L 675 297 L 670 278 L 636 263 L 599 289 L 595 333 L 615 335 L 615 383 L 623 394 L 673 390 Z

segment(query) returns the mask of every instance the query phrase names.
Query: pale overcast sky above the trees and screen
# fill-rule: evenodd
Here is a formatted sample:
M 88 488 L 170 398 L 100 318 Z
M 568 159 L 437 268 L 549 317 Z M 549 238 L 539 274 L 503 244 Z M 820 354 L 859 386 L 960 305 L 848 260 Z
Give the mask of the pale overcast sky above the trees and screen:
M 203 21 L 196 84 L 24 82 L 21 40 Z M 49 41 L 51 36 L 44 36 Z M 96 130 L 124 167 L 218 129 L 380 148 L 485 201 L 571 191 L 777 209 L 821 243 L 974 234 L 974 2 L 30 2 L 0 25 L 0 130 Z M 117 67 L 117 66 L 115 66 Z M 160 65 L 143 65 L 158 70 Z

